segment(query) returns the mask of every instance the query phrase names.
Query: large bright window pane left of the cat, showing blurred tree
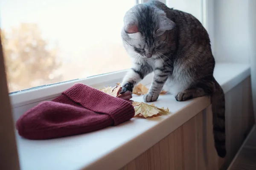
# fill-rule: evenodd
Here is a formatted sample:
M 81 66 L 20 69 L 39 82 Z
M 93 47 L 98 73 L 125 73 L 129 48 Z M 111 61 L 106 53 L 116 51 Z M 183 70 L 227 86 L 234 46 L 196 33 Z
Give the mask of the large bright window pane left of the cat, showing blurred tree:
M 1 0 L 9 91 L 127 69 L 125 12 L 136 0 Z

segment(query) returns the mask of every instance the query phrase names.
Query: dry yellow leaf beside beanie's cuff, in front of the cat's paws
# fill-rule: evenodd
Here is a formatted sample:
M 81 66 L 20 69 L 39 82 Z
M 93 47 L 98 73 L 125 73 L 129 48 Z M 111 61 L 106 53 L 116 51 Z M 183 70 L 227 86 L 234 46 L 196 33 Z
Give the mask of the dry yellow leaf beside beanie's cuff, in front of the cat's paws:
M 134 116 L 142 116 L 144 118 L 147 117 L 155 117 L 161 116 L 162 114 L 169 113 L 169 108 L 157 108 L 154 104 L 148 105 L 143 102 L 133 102 L 135 115 Z

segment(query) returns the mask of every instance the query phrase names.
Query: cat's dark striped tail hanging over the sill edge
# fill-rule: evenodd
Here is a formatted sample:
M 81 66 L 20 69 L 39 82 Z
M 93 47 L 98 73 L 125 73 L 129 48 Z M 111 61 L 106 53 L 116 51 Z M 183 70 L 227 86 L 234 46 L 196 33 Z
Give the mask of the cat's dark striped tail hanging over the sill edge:
M 215 92 L 211 96 L 212 100 L 212 124 L 215 148 L 218 156 L 226 156 L 226 136 L 225 136 L 225 96 L 221 86 L 214 79 Z

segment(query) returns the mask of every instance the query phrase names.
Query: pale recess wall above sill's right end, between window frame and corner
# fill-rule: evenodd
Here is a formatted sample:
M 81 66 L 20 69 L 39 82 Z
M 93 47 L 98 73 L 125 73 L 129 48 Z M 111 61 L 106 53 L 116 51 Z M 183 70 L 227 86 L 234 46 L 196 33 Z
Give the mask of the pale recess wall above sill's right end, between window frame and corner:
M 216 61 L 249 63 L 249 0 L 213 1 Z

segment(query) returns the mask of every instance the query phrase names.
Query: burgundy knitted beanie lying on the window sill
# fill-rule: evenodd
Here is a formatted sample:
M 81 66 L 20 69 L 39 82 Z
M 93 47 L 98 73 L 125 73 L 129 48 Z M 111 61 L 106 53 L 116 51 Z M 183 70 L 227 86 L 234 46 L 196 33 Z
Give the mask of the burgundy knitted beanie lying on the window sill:
M 56 99 L 41 102 L 24 113 L 16 128 L 27 139 L 52 139 L 119 125 L 134 113 L 128 101 L 76 84 Z

